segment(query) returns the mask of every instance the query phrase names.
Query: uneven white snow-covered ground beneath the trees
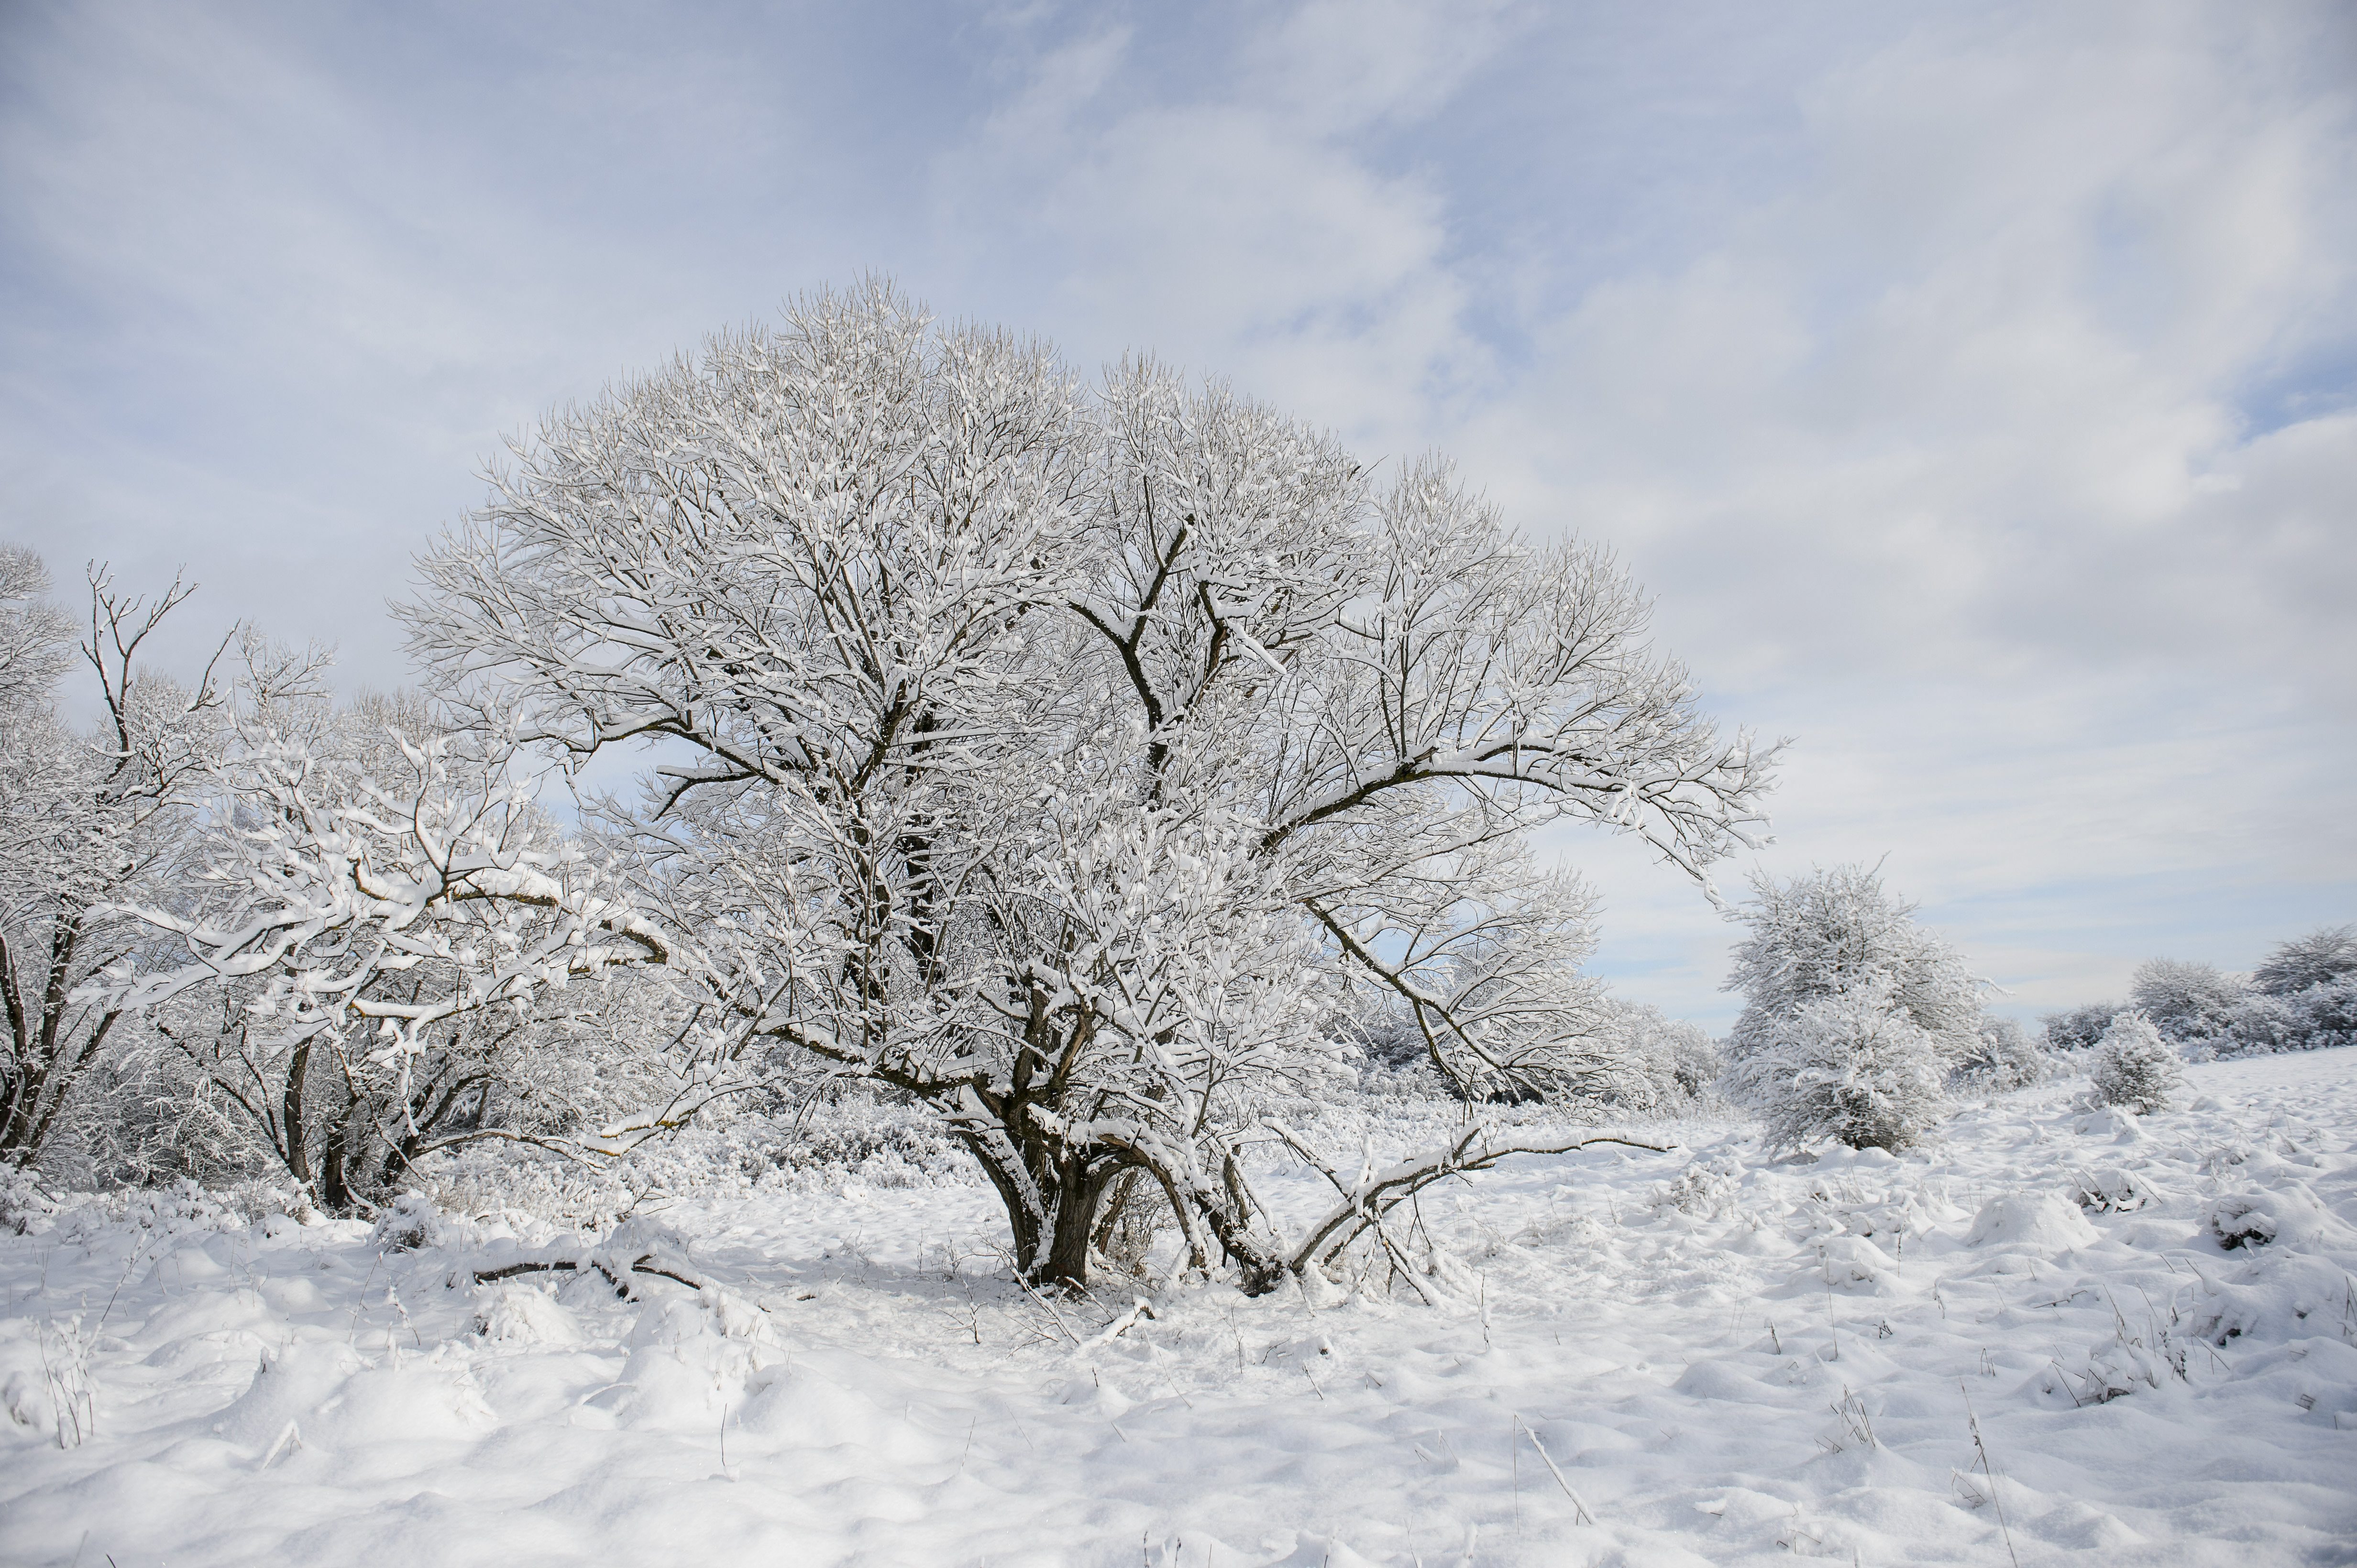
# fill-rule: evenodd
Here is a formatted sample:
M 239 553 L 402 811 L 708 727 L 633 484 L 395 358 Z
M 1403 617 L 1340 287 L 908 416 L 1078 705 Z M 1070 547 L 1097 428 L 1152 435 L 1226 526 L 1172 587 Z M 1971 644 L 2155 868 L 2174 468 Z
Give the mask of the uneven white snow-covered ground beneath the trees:
M 1424 1201 L 1433 1304 L 1117 1335 L 1006 1283 L 983 1189 L 679 1205 L 709 1283 L 639 1302 L 474 1285 L 554 1255 L 521 1217 L 66 1212 L 0 1236 L 0 1559 L 2357 1563 L 2357 1052 L 2077 1088 L 1928 1158 L 1525 1161 Z

